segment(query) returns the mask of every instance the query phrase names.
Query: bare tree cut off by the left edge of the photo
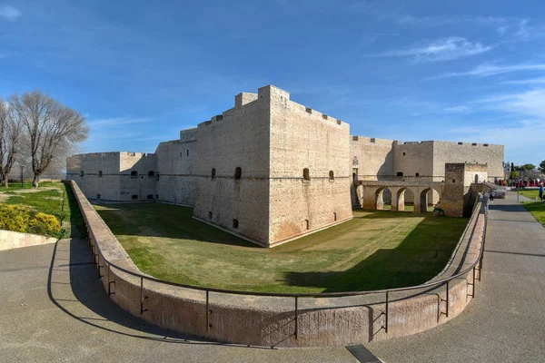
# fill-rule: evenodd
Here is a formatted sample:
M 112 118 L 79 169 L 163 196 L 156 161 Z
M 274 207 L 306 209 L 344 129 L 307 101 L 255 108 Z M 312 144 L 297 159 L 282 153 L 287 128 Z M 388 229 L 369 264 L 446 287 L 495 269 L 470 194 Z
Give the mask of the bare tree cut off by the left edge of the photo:
M 21 128 L 13 107 L 0 98 L 0 181 L 5 187 L 17 152 L 20 151 Z

